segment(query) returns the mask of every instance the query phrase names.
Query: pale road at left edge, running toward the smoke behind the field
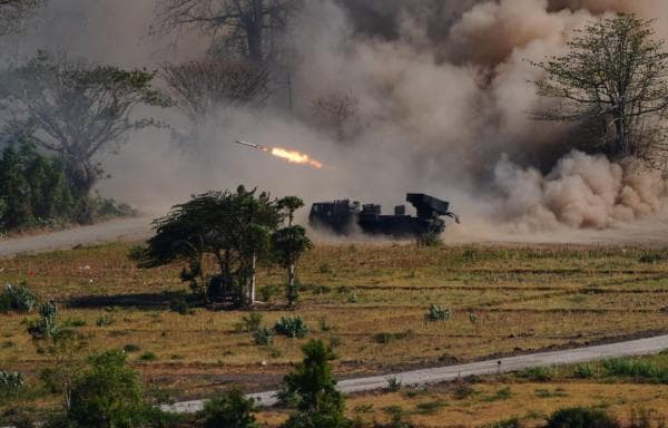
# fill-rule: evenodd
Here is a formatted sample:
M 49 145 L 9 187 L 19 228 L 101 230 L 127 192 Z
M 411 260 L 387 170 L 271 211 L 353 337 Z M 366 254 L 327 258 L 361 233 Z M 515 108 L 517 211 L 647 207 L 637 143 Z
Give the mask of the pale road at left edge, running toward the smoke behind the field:
M 136 217 L 80 226 L 49 234 L 0 240 L 0 257 L 19 253 L 39 253 L 50 250 L 71 249 L 79 244 L 143 239 L 150 235 L 148 217 Z

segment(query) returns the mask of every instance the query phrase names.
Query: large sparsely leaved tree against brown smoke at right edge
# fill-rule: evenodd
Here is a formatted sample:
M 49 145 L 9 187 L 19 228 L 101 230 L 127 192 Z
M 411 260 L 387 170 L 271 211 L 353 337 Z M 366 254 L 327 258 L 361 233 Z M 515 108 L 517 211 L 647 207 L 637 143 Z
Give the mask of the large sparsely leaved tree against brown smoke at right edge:
M 567 55 L 536 64 L 546 71 L 538 94 L 557 101 L 537 118 L 577 124 L 591 137 L 582 148 L 665 163 L 668 54 L 651 26 L 632 14 L 599 19 L 577 31 Z

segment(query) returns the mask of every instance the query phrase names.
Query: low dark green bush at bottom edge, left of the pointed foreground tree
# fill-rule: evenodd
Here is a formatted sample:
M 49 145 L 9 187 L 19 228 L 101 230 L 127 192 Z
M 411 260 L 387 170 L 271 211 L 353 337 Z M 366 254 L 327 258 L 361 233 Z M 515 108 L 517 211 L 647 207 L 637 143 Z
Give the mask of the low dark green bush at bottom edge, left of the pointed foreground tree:
M 219 393 L 204 403 L 198 414 L 204 428 L 256 428 L 253 414 L 257 412 L 253 399 L 247 399 L 238 389 Z

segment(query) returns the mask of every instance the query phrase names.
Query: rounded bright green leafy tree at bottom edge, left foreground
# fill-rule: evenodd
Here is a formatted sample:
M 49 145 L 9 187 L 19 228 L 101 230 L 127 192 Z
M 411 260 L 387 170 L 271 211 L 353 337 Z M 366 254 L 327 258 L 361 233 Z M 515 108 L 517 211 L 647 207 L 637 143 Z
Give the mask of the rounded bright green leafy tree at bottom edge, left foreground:
M 137 372 L 120 351 L 90 357 L 90 368 L 71 391 L 69 419 L 81 427 L 145 426 L 146 405 Z

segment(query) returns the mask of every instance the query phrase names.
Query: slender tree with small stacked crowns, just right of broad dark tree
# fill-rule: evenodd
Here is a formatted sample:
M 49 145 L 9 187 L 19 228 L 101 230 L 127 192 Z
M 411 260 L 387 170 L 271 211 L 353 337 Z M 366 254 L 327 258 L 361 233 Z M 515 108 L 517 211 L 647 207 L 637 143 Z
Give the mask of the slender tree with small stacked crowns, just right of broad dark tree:
M 287 269 L 287 290 L 286 296 L 291 307 L 294 307 L 298 299 L 298 289 L 295 284 L 297 262 L 302 254 L 313 247 L 313 243 L 306 236 L 306 230 L 299 225 L 293 225 L 294 213 L 304 202 L 295 196 L 288 196 L 278 202 L 281 207 L 287 211 L 287 227 L 283 227 L 272 235 L 272 249 L 281 265 Z

